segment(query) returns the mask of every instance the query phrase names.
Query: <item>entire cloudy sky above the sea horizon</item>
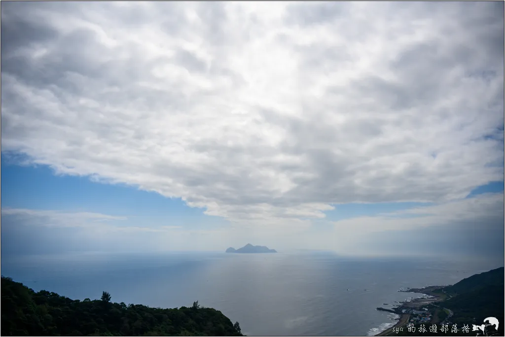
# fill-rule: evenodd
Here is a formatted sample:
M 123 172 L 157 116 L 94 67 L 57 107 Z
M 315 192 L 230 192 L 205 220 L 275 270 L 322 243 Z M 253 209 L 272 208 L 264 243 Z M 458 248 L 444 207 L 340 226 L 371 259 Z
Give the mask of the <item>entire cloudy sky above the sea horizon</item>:
M 7 2 L 2 256 L 503 263 L 503 2 Z

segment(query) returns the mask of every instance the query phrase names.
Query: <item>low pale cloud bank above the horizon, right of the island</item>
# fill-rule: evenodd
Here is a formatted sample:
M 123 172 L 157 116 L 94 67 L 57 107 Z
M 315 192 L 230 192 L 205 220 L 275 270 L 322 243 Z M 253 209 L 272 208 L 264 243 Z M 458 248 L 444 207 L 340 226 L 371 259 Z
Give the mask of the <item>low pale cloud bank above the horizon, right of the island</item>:
M 332 221 L 324 232 L 290 238 L 340 254 L 433 255 L 503 263 L 503 193 Z M 326 220 L 325 220 L 326 221 Z

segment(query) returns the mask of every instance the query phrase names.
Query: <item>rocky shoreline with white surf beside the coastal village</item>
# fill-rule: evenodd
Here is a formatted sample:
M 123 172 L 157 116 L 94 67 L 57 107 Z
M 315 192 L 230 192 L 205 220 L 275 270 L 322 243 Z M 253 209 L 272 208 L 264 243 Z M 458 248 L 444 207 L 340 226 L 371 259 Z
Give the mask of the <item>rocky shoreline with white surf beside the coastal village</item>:
M 375 336 L 385 336 L 393 332 L 393 330 L 400 328 L 403 325 L 406 325 L 409 322 L 409 318 L 411 315 L 409 313 L 402 312 L 402 310 L 406 311 L 418 310 L 425 305 L 443 301 L 445 299 L 445 294 L 443 293 L 443 291 L 442 294 L 436 293 L 435 291 L 441 290 L 445 287 L 446 286 L 427 286 L 423 288 L 408 288 L 407 290 L 398 290 L 398 292 L 400 293 L 424 294 L 428 297 L 420 297 L 412 300 L 405 300 L 403 302 L 399 302 L 398 306 L 392 309 L 377 308 L 376 310 L 392 312 L 397 315 L 400 315 L 400 318 L 398 319 L 398 322 L 396 322 L 396 324 L 377 333 Z

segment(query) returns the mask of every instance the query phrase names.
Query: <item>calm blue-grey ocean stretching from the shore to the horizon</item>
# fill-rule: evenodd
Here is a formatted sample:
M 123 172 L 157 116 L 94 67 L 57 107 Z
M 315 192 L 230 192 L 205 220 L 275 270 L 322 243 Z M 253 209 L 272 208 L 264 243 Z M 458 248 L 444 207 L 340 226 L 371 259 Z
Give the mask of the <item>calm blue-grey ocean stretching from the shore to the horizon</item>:
M 35 291 L 151 307 L 194 301 L 238 321 L 246 335 L 374 335 L 396 315 L 375 310 L 499 267 L 421 258 L 350 258 L 331 253 L 75 254 L 2 258 L 2 275 Z M 396 316 L 397 317 L 397 316 Z

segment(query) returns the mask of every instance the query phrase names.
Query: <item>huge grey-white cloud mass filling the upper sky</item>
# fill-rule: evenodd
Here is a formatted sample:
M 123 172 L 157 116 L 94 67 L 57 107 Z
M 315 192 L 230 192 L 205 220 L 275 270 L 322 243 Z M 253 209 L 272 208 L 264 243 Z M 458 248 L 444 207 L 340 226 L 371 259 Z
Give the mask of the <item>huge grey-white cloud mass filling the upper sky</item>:
M 302 231 L 336 203 L 461 199 L 503 179 L 502 13 L 8 3 L 2 152 L 237 226 Z

